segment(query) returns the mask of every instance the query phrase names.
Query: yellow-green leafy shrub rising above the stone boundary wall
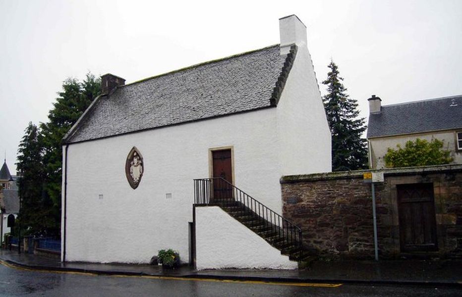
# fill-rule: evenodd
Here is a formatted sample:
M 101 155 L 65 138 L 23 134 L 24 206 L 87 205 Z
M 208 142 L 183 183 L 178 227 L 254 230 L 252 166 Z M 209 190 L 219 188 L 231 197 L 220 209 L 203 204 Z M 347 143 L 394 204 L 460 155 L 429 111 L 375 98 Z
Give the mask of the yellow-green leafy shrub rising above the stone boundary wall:
M 385 164 L 387 167 L 410 167 L 451 163 L 454 158 L 449 150 L 442 149 L 443 146 L 443 141 L 438 139 L 428 142 L 417 138 L 406 142 L 404 148 L 400 145 L 397 145 L 398 149 L 388 148 Z

